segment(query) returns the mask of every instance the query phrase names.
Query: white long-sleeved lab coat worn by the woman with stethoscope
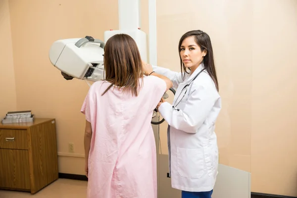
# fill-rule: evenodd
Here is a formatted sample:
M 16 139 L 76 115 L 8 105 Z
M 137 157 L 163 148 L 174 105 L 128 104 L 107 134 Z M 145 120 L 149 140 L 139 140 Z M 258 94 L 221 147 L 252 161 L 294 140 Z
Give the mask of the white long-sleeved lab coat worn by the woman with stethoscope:
M 176 89 L 173 104 L 181 90 L 203 64 L 183 82 L 181 72 L 153 66 L 156 73 L 173 82 Z M 182 97 L 182 96 L 181 96 Z M 180 97 L 180 98 L 181 98 Z M 158 111 L 168 123 L 169 173 L 172 188 L 182 191 L 206 192 L 214 188 L 218 173 L 218 147 L 214 132 L 221 109 L 221 98 L 207 71 L 202 71 L 191 83 L 185 97 L 177 105 L 163 102 Z

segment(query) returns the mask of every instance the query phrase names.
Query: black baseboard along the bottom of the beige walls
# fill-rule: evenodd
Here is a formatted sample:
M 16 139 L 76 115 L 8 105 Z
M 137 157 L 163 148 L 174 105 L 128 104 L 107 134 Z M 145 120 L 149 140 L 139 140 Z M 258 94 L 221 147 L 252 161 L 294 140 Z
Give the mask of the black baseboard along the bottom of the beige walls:
M 80 180 L 80 181 L 88 181 L 88 178 L 85 175 L 76 175 L 76 174 L 69 174 L 69 173 L 59 173 L 59 178 L 61 178 L 61 179 Z M 271 194 L 265 194 L 265 193 L 253 193 L 253 192 L 251 192 L 251 198 L 297 198 L 297 197 L 271 195 Z

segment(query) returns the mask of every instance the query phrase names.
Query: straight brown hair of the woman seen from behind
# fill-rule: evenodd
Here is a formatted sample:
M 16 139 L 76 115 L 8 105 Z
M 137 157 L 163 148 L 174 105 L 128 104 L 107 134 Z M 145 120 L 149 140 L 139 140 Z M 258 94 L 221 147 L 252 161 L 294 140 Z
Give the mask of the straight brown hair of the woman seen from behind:
M 107 40 L 104 47 L 104 69 L 104 80 L 111 85 L 103 94 L 115 85 L 138 96 L 139 79 L 144 77 L 144 70 L 139 49 L 132 37 L 116 34 Z

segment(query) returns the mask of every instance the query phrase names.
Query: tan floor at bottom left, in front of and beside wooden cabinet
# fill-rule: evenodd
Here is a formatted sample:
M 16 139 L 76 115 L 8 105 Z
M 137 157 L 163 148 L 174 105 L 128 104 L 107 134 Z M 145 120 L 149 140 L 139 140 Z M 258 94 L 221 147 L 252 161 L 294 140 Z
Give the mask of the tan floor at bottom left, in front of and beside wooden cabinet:
M 34 195 L 0 190 L 0 198 L 86 198 L 86 192 L 85 181 L 58 179 Z

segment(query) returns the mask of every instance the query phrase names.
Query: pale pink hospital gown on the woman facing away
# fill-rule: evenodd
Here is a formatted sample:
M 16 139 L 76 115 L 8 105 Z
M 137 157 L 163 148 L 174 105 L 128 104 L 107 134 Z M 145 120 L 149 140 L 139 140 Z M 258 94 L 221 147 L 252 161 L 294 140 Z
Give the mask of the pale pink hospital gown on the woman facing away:
M 140 80 L 141 84 L 141 80 Z M 144 77 L 139 95 L 95 82 L 81 112 L 92 124 L 88 198 L 157 198 L 155 140 L 150 124 L 166 83 Z M 114 89 L 113 89 L 114 88 Z

